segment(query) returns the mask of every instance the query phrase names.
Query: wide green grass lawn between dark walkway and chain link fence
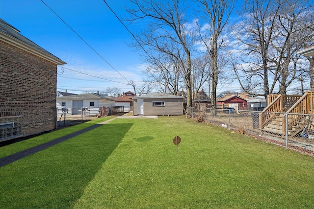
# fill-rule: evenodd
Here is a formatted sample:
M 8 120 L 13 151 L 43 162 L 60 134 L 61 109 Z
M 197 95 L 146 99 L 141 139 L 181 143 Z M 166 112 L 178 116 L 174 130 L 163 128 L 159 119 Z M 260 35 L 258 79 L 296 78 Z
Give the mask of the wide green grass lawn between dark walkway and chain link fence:
M 184 116 L 115 119 L 0 179 L 0 208 L 314 208 L 313 157 Z

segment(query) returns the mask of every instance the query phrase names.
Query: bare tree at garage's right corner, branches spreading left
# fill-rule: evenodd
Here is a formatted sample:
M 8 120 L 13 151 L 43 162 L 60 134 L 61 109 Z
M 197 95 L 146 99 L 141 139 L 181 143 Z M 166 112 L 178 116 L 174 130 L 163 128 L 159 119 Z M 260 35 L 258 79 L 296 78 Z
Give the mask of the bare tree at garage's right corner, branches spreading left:
M 192 106 L 191 49 L 193 34 L 187 28 L 192 11 L 189 0 L 131 0 L 133 8 L 128 9 L 131 22 L 145 22 L 145 29 L 136 35 L 133 46 L 165 54 L 180 63 L 187 92 L 187 106 Z

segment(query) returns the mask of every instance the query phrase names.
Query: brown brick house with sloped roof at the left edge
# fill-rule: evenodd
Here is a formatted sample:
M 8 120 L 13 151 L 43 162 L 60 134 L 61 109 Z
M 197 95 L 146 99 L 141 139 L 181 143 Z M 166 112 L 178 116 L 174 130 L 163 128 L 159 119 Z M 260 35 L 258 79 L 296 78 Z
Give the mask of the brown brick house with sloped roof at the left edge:
M 64 64 L 0 19 L 0 141 L 55 128 L 57 66 Z

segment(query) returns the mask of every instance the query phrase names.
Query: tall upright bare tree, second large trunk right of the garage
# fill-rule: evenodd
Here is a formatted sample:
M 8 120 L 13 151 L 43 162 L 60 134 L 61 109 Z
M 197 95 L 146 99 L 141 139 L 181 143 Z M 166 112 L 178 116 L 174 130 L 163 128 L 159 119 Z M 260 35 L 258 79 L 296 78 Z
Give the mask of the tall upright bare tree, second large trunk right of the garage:
M 205 45 L 211 63 L 211 108 L 216 108 L 216 90 L 218 84 L 219 61 L 218 55 L 223 46 L 223 30 L 231 15 L 234 0 L 198 0 L 205 11 L 205 20 L 209 24 L 206 33 L 201 35 L 201 42 Z M 212 113 L 215 114 L 215 113 Z

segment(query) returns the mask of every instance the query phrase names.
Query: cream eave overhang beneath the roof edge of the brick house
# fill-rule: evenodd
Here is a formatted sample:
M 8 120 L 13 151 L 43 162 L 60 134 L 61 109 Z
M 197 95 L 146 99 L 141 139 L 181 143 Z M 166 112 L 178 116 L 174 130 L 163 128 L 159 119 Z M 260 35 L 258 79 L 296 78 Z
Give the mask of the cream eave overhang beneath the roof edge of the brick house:
M 57 57 L 53 57 L 53 56 L 49 56 L 48 54 L 45 54 L 43 53 L 42 51 L 32 47 L 32 46 L 29 46 L 29 45 L 26 45 L 25 43 L 21 42 L 20 40 L 14 38 L 14 37 L 11 37 L 3 32 L 0 31 L 0 40 L 9 44 L 9 45 L 12 45 L 12 46 L 16 46 L 20 49 L 23 49 L 31 54 L 34 54 L 38 57 L 41 57 L 47 61 L 50 61 L 56 65 L 65 65 L 67 64 L 66 62 L 63 62 L 62 60 L 60 60 L 59 58 Z

